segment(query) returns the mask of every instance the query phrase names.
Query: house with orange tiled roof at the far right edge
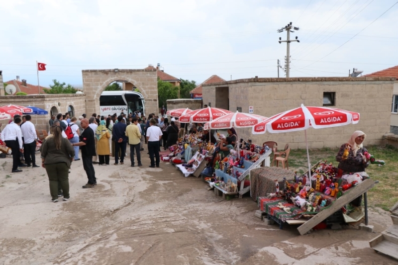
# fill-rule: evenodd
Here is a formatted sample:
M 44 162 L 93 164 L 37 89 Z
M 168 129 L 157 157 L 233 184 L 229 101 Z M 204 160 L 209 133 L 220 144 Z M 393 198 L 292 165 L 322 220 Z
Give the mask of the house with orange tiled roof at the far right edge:
M 394 134 L 398 134 L 398 66 L 387 68 L 382 71 L 378 71 L 365 77 L 395 77 L 397 80 L 394 83 L 393 90 L 393 101 L 391 104 L 391 124 L 390 131 Z

